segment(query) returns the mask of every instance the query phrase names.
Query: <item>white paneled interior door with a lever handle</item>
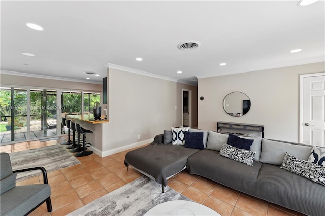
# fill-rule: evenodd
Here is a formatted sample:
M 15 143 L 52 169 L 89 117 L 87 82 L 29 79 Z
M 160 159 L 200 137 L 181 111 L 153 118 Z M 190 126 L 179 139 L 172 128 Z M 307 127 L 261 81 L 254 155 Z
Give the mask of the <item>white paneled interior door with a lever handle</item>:
M 325 146 L 325 73 L 300 76 L 300 142 Z

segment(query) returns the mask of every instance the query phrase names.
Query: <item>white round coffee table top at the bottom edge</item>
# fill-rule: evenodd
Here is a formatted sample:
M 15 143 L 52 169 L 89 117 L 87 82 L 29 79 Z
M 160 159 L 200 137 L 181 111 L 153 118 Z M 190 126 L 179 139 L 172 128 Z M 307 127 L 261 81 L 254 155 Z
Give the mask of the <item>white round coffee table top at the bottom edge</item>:
M 196 202 L 186 201 L 186 200 L 173 200 L 168 202 L 160 203 L 159 205 L 151 208 L 146 216 L 149 215 L 217 215 L 220 216 L 217 212 L 211 208 L 201 205 Z

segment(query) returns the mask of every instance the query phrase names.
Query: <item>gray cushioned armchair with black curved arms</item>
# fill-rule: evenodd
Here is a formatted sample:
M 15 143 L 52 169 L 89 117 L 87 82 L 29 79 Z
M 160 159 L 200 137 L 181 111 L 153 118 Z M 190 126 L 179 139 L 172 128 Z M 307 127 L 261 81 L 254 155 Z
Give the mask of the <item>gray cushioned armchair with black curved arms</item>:
M 12 170 L 8 153 L 0 153 L 0 215 L 27 215 L 44 202 L 47 211 L 52 211 L 51 187 L 48 184 L 44 167 Z M 33 184 L 16 187 L 17 172 L 41 170 L 44 184 Z

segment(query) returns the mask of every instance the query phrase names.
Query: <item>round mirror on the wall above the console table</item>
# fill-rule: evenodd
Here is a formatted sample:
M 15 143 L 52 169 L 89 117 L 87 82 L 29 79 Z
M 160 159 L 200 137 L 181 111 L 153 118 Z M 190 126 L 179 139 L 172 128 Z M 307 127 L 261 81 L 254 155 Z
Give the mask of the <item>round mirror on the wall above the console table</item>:
M 224 97 L 223 109 L 231 116 L 243 116 L 250 109 L 250 99 L 242 92 L 232 92 Z

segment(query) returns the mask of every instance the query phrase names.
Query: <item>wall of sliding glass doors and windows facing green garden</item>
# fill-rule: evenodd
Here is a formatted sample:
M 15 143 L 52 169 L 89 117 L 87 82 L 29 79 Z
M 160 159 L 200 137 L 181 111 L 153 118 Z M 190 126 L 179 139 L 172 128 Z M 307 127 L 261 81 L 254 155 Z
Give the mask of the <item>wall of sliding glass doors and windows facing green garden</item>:
M 96 102 L 98 92 L 1 86 L 0 144 L 64 134 L 61 117 L 92 113 Z

